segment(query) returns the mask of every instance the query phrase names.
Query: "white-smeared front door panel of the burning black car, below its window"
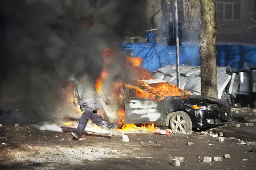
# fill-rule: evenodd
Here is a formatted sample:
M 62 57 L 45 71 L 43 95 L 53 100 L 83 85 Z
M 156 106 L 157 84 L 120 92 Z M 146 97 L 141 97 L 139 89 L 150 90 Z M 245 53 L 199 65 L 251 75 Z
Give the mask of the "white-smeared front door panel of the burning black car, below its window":
M 163 102 L 153 99 L 126 97 L 124 124 L 162 123 Z

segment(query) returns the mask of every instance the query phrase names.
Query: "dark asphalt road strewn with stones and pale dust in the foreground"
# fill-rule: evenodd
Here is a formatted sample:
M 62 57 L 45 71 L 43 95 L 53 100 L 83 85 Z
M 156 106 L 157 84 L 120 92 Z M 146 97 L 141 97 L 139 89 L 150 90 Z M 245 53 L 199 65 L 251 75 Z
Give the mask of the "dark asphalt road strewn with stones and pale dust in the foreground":
M 70 129 L 72 131 L 73 129 Z M 67 130 L 68 131 L 68 130 Z M 128 134 L 109 138 L 104 134 L 85 134 L 84 140 L 71 140 L 70 133 L 40 131 L 34 127 L 0 127 L 0 169 L 20 170 L 252 170 L 256 153 L 238 141 L 219 142 L 200 134 Z M 187 145 L 187 142 L 193 142 Z M 2 144 L 5 143 L 5 144 Z M 93 151 L 94 150 L 94 151 Z M 106 150 L 115 151 L 106 154 Z M 204 156 L 231 159 L 204 163 Z M 171 159 L 184 157 L 181 167 Z M 12 165 L 12 166 L 10 166 Z

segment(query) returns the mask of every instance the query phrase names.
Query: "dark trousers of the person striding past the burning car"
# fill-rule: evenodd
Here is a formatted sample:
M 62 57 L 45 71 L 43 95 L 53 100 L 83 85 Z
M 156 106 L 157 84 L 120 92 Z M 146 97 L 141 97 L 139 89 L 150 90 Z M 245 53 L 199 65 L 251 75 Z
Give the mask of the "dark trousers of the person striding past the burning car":
M 76 127 L 76 132 L 80 135 L 84 132 L 84 129 L 88 123 L 88 120 L 91 119 L 92 122 L 98 126 L 102 126 L 106 129 L 111 129 L 114 126 L 113 123 L 108 122 L 107 120 L 103 119 L 97 111 L 93 111 L 89 108 L 86 108 L 82 113 L 82 116 L 79 118 L 79 124 Z

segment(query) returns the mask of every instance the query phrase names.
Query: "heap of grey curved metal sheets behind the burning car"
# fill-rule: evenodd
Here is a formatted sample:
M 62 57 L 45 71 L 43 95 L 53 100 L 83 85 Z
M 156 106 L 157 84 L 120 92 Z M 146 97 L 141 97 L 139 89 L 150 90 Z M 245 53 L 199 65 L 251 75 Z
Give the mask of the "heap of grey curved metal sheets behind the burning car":
M 177 84 L 174 64 L 153 71 L 153 75 L 156 79 Z M 236 94 L 250 95 L 256 92 L 256 66 L 248 62 L 244 62 L 244 67 L 240 70 L 230 66 L 217 66 L 217 77 L 219 99 L 236 98 Z M 199 66 L 180 65 L 180 88 L 201 95 Z

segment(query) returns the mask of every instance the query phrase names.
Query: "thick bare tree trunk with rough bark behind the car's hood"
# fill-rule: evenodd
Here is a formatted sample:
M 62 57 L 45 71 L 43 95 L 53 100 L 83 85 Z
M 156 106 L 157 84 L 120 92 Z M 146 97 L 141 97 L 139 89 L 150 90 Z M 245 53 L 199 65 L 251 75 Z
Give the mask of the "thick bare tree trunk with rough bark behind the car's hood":
M 201 93 L 218 98 L 216 66 L 216 4 L 215 0 L 200 0 L 200 61 Z

